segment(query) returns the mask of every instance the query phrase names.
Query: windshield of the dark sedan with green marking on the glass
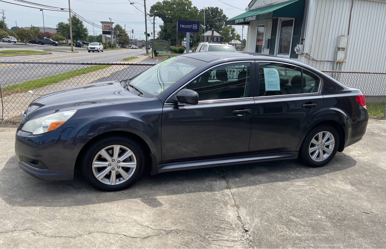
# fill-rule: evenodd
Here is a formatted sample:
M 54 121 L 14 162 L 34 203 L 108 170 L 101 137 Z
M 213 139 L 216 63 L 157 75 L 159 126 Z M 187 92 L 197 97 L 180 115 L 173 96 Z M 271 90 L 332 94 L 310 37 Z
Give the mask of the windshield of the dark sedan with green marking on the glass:
M 129 84 L 148 95 L 158 95 L 204 63 L 185 56 L 171 57 L 137 75 Z

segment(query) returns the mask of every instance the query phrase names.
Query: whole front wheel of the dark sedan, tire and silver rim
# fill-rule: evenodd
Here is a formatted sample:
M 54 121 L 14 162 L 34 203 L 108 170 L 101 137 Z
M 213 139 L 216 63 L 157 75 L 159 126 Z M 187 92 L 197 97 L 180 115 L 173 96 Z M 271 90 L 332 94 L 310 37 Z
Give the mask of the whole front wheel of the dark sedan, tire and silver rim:
M 101 191 L 118 191 L 134 184 L 141 176 L 145 155 L 132 139 L 108 137 L 92 144 L 83 155 L 83 177 Z

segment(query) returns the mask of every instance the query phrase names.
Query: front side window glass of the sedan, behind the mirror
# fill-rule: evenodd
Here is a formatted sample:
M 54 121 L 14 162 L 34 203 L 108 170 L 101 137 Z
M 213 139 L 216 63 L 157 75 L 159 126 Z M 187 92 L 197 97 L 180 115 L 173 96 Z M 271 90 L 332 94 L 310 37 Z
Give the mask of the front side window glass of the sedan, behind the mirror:
M 237 99 L 248 95 L 251 62 L 225 64 L 198 76 L 186 85 L 198 100 Z

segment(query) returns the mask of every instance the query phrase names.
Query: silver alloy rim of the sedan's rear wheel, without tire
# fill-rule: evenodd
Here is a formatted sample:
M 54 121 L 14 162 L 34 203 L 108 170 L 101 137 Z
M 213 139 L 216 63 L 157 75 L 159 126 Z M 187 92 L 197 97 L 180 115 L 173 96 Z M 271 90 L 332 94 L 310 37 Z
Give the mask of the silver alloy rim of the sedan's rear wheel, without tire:
M 328 131 L 322 131 L 311 140 L 308 153 L 315 162 L 322 162 L 331 155 L 334 146 L 334 136 Z

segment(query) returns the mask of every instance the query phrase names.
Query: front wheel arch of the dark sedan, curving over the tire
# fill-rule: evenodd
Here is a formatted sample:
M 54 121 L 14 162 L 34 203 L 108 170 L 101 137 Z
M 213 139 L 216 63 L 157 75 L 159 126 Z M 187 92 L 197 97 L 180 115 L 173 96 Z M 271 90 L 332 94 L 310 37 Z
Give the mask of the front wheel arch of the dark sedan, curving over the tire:
M 79 168 L 80 167 L 81 160 L 82 160 L 82 157 L 83 157 L 83 154 L 84 154 L 85 150 L 95 140 L 103 139 L 105 137 L 107 138 L 107 137 L 111 137 L 111 136 L 130 137 L 130 138 L 134 139 L 135 141 L 137 141 L 142 146 L 142 149 L 144 149 L 145 160 L 146 160 L 146 162 L 145 162 L 146 169 L 150 170 L 150 169 L 152 169 L 152 167 L 154 167 L 154 165 L 153 165 L 154 164 L 154 159 L 153 159 L 153 156 L 152 156 L 153 155 L 152 151 L 151 151 L 149 145 L 146 143 L 146 141 L 144 139 L 142 139 L 142 137 L 140 137 L 139 135 L 137 135 L 137 134 L 135 134 L 133 132 L 129 132 L 129 131 L 113 130 L 113 131 L 103 132 L 103 133 L 98 134 L 95 137 L 91 138 L 90 140 L 88 140 L 86 142 L 86 144 L 84 144 L 83 147 L 81 148 L 81 150 L 79 151 L 79 153 L 78 153 L 78 155 L 76 157 L 75 167 L 74 168 Z

